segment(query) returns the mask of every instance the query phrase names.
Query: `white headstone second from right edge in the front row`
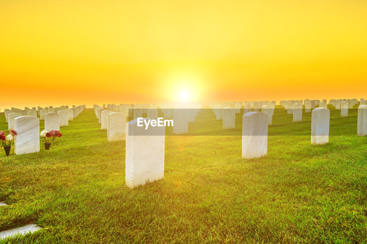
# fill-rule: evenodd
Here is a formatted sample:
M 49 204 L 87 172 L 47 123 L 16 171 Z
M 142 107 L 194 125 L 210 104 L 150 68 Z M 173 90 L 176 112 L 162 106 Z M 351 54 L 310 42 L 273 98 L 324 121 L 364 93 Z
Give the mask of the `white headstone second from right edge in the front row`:
M 315 108 L 311 115 L 311 143 L 325 144 L 329 142 L 330 110 Z

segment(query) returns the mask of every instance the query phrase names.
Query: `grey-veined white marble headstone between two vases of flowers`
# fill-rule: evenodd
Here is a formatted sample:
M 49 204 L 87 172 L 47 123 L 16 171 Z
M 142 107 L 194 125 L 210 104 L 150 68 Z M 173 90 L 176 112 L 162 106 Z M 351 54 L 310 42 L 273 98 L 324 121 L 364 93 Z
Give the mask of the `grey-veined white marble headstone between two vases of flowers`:
M 16 155 L 40 151 L 40 119 L 21 116 L 15 119 L 14 152 Z

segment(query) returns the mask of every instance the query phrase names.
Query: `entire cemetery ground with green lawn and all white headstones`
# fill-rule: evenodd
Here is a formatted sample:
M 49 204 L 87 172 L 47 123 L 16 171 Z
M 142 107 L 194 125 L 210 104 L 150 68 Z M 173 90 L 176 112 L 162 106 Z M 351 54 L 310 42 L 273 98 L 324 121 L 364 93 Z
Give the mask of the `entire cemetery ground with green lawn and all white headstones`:
M 362 241 L 367 105 L 319 101 L 6 109 L 0 240 Z

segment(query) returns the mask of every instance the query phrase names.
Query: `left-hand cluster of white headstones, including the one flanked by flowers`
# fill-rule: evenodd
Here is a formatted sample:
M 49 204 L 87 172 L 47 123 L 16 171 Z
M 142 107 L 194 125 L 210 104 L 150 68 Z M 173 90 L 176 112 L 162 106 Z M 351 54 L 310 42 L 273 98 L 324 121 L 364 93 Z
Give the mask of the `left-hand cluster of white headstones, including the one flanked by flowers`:
M 77 109 L 76 109 L 77 108 Z M 78 106 L 72 109 L 73 112 L 83 111 L 84 106 Z M 52 109 L 52 108 L 51 108 Z M 68 110 L 68 109 L 67 109 Z M 36 112 L 32 110 L 33 112 Z M 42 110 L 40 110 L 42 111 Z M 28 154 L 40 151 L 40 119 L 33 115 L 17 116 L 12 118 L 17 113 L 8 113 L 6 115 L 8 123 L 14 123 L 11 129 L 17 132 L 14 138 L 14 152 L 16 155 Z M 45 130 L 60 130 L 61 121 L 68 122 L 69 111 L 61 110 L 57 113 L 49 112 L 44 114 Z

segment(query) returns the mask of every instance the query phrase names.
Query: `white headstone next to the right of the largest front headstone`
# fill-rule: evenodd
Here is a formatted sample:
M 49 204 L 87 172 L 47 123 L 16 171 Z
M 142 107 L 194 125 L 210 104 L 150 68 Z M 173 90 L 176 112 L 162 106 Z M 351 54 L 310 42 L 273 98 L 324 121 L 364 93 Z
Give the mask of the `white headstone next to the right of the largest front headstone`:
M 242 120 L 242 158 L 259 158 L 268 151 L 268 115 L 248 112 Z

